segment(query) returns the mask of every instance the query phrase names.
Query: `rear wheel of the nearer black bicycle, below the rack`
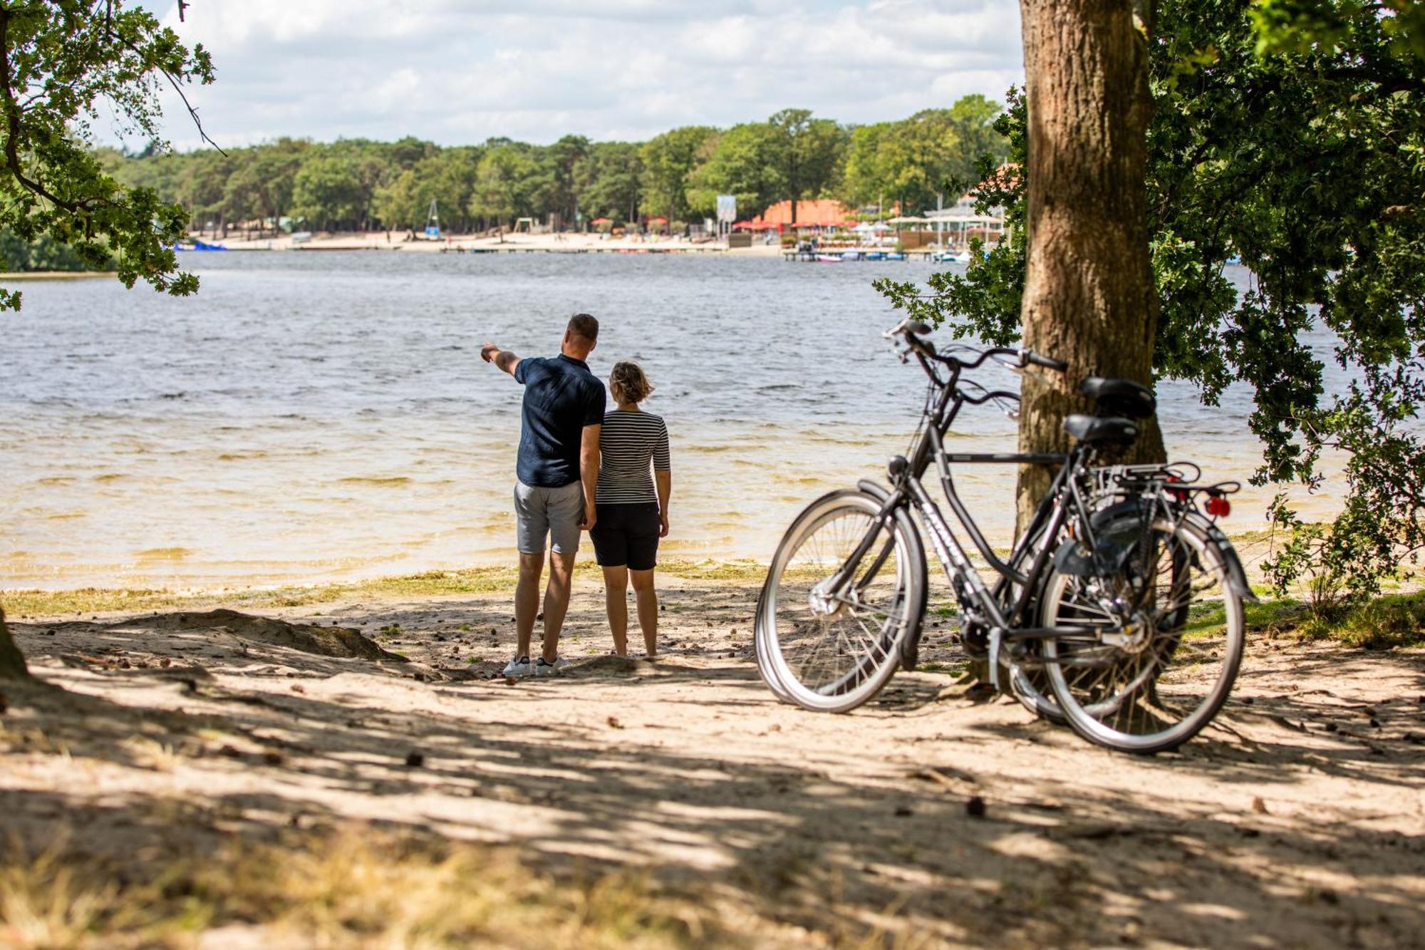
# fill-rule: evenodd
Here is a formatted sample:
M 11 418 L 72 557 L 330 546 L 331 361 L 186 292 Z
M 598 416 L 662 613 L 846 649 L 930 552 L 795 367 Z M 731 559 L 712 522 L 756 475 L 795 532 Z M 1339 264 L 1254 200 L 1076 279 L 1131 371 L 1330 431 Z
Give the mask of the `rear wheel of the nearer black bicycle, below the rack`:
M 1196 736 L 1231 692 L 1245 639 L 1241 596 L 1200 528 L 1130 515 L 1100 535 L 1116 531 L 1140 533 L 1117 575 L 1050 573 L 1046 626 L 1096 633 L 1045 639 L 1045 672 L 1074 732 L 1110 749 L 1164 752 Z

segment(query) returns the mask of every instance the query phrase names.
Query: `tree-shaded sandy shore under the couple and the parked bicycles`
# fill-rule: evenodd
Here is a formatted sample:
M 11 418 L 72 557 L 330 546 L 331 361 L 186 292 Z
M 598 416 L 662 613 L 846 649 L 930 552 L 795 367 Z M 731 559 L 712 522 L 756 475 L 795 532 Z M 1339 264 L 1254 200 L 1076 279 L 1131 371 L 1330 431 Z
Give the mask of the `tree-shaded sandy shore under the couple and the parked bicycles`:
M 9 863 L 50 849 L 137 887 L 194 856 L 359 829 L 503 849 L 477 853 L 579 893 L 636 877 L 684 921 L 644 946 L 1415 941 L 1425 650 L 1255 630 L 1217 722 L 1139 759 L 966 692 L 940 615 L 922 670 L 856 713 L 781 705 L 752 658 L 755 572 L 718 573 L 665 578 L 656 663 L 606 656 L 580 575 L 573 669 L 519 682 L 499 675 L 513 623 L 493 575 L 239 611 L 13 602 L 47 686 L 7 685 L 0 705 Z M 314 939 L 284 926 L 218 914 L 170 946 Z

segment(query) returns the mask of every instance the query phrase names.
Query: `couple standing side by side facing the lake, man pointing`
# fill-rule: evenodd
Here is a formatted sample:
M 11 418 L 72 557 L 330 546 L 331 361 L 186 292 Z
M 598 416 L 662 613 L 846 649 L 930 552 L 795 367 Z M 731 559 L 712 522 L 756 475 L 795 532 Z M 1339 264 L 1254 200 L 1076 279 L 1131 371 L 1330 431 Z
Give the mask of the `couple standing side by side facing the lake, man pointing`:
M 569 666 L 559 632 L 569 611 L 579 535 L 589 531 L 604 569 L 604 598 L 614 652 L 628 655 L 628 581 L 648 658 L 658 652 L 658 595 L 653 588 L 658 538 L 668 533 L 673 472 L 663 417 L 643 412 L 653 387 L 636 362 L 616 362 L 608 391 L 618 408 L 604 412 L 604 385 L 589 371 L 598 321 L 574 314 L 553 359 L 520 358 L 493 342 L 480 357 L 524 387 L 514 485 L 520 579 L 514 588 L 519 646 L 506 676 L 547 676 Z M 543 655 L 530 663 L 539 582 L 549 543 Z

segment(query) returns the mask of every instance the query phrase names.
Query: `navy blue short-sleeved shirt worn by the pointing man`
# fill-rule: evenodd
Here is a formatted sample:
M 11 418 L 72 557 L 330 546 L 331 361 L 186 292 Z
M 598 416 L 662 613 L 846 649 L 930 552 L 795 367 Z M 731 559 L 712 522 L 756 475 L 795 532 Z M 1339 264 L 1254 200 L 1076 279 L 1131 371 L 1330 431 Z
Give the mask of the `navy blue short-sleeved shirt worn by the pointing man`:
M 584 427 L 604 421 L 604 384 L 587 362 L 564 354 L 520 359 L 514 379 L 524 384 L 519 479 L 530 488 L 573 485 Z

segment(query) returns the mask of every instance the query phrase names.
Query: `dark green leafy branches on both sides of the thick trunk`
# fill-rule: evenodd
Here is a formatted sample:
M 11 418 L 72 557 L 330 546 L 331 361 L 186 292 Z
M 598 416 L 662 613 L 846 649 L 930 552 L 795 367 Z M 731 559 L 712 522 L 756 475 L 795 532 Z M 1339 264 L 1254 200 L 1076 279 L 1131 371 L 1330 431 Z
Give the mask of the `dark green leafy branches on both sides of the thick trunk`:
M 1425 546 L 1425 60 L 1391 17 L 1330 6 L 1349 29 L 1332 43 L 1261 46 L 1247 0 L 1171 0 L 1150 44 L 1149 224 L 1163 308 L 1153 364 L 1216 405 L 1227 385 L 1254 391 L 1258 484 L 1321 484 L 1325 449 L 1345 454 L 1345 508 L 1334 529 L 1275 562 L 1275 579 L 1325 572 L 1358 593 Z M 1263 53 L 1258 53 L 1263 48 Z M 1026 110 L 999 120 L 1023 164 Z M 1023 221 L 1023 174 L 980 188 Z M 1112 227 L 1112 223 L 1104 223 Z M 1240 258 L 1251 285 L 1224 275 Z M 982 251 L 929 292 L 884 281 L 895 305 L 956 332 L 1019 334 L 1025 234 Z M 1325 392 L 1304 339 L 1321 324 L 1351 375 Z M 1284 499 L 1275 521 L 1305 538 Z

